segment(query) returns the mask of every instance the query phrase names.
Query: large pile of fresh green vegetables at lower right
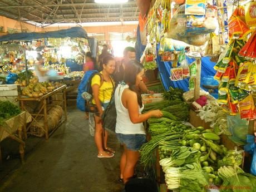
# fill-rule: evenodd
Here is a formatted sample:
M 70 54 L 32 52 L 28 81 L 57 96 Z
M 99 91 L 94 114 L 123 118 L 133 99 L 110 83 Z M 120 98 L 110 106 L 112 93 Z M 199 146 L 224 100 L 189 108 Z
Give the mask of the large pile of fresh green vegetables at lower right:
M 237 177 L 234 173 L 230 174 L 230 170 L 239 169 L 242 164 L 243 151 L 228 150 L 220 144 L 220 137 L 212 129 L 183 125 L 172 114 L 162 112 L 163 117 L 147 121 L 152 139 L 142 145 L 140 157 L 141 163 L 149 166 L 152 154 L 158 147 L 159 163 L 165 173 L 168 189 L 202 192 L 206 191 L 205 186 L 238 186 L 242 182 L 248 184 L 249 180 L 251 183 L 248 186 L 255 185 L 253 175 L 243 172 Z M 256 188 L 250 189 L 253 191 Z M 231 188 L 221 188 L 220 191 L 238 192 Z

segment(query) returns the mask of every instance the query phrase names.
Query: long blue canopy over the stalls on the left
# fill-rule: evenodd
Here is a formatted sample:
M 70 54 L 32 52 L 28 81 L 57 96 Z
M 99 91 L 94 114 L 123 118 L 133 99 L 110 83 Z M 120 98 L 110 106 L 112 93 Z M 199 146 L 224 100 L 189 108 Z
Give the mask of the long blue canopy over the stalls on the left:
M 14 33 L 10 35 L 5 35 L 0 37 L 0 41 L 29 41 L 38 40 L 41 38 L 65 38 L 65 37 L 80 37 L 88 38 L 85 29 L 82 27 L 72 27 L 70 29 L 62 29 L 60 31 L 50 31 L 50 32 L 31 32 L 31 33 Z

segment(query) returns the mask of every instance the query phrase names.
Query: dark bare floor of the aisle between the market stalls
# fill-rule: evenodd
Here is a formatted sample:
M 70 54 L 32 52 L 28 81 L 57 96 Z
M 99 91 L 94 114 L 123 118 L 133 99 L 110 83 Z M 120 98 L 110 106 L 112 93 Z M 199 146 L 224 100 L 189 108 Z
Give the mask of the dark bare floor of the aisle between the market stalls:
M 68 110 L 68 121 L 50 137 L 42 138 L 26 163 L 3 179 L 4 192 L 120 192 L 119 176 L 121 148 L 110 134 L 109 146 L 116 149 L 110 159 L 97 158 L 93 137 L 84 114 Z

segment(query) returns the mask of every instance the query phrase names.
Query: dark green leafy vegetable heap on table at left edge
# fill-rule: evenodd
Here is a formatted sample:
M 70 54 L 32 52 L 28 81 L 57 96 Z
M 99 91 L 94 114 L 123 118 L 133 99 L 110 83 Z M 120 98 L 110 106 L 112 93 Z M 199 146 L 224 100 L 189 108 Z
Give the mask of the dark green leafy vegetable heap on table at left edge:
M 10 117 L 16 116 L 21 113 L 21 109 L 18 106 L 12 104 L 9 101 L 0 101 L 0 125 L 4 120 Z

